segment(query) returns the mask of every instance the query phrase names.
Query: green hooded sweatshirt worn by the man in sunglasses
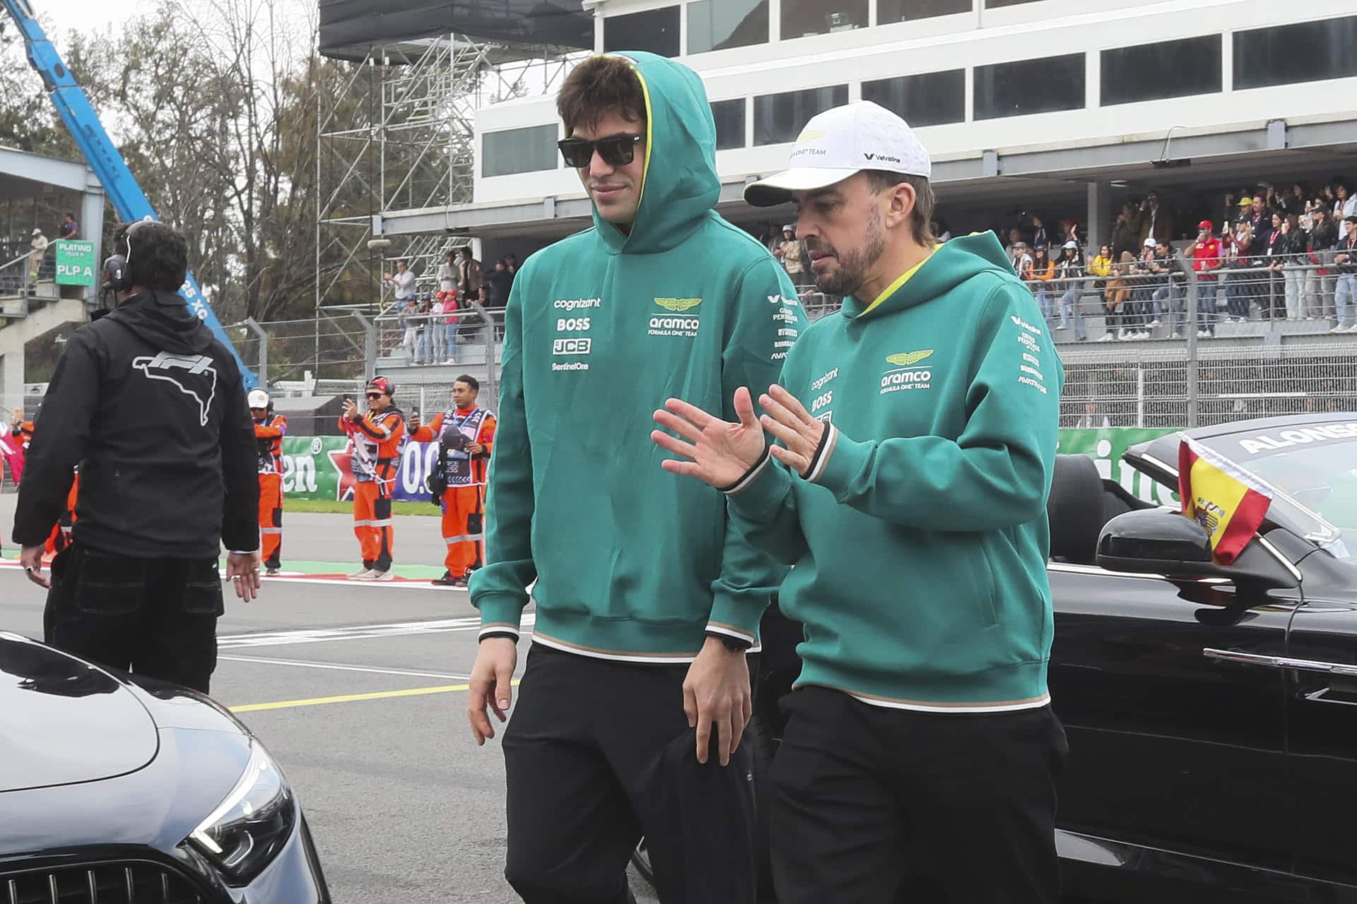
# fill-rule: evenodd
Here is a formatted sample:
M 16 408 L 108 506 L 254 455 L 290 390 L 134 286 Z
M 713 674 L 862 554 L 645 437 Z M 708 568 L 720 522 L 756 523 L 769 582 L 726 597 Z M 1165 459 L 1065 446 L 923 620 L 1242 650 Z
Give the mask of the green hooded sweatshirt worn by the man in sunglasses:
M 670 396 L 737 420 L 731 396 L 776 382 L 805 327 L 759 241 L 714 211 L 715 125 L 702 80 L 632 60 L 647 107 L 630 234 L 601 220 L 524 262 L 505 313 L 482 636 L 630 661 L 692 660 L 706 630 L 757 641 L 786 567 L 733 530 L 723 496 L 660 466 L 651 415 Z

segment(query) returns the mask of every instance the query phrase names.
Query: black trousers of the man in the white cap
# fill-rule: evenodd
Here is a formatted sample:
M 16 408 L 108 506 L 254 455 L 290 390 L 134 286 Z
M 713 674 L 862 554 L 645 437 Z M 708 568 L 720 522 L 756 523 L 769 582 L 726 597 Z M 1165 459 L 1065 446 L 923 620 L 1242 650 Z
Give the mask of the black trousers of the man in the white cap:
M 779 904 L 1054 904 L 1050 707 L 934 714 L 806 687 L 772 763 Z

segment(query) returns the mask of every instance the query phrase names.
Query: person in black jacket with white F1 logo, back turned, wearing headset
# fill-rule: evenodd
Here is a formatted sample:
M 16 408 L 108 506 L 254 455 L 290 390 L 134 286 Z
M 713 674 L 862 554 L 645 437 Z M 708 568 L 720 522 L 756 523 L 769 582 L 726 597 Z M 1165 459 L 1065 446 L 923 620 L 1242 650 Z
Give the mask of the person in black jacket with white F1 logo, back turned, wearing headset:
M 14 538 L 50 587 L 46 641 L 96 663 L 208 691 L 217 557 L 236 595 L 259 588 L 255 438 L 235 358 L 176 294 L 183 236 L 141 221 L 114 236 L 118 308 L 66 342 L 34 430 Z M 72 543 L 42 577 L 42 543 L 75 466 Z

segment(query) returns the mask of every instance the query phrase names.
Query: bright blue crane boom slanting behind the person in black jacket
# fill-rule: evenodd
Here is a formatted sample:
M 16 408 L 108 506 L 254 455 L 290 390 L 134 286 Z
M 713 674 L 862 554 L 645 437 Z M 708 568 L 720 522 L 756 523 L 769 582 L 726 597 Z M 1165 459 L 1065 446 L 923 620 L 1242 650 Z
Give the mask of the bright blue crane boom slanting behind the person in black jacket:
M 118 217 L 123 222 L 145 220 L 147 217 L 157 220 L 156 211 L 151 206 L 151 202 L 147 201 L 145 192 L 141 191 L 141 186 L 137 184 L 132 171 L 128 169 L 128 164 L 123 161 L 122 155 L 118 153 L 118 148 L 114 146 L 113 140 L 109 138 L 109 133 L 104 131 L 103 123 L 99 122 L 99 115 L 90 106 L 90 99 L 85 96 L 84 89 L 76 83 L 66 65 L 61 62 L 57 49 L 52 46 L 47 35 L 42 31 L 42 26 L 34 19 L 33 7 L 28 5 L 28 0 L 0 0 L 0 4 L 4 4 L 9 18 L 19 26 L 19 34 L 23 35 L 24 49 L 28 54 L 28 64 L 42 76 L 42 84 L 46 87 L 47 96 L 52 98 L 61 122 L 65 123 L 66 131 L 71 133 L 76 146 L 80 148 L 80 153 L 84 155 L 85 163 L 90 164 L 90 168 L 99 178 L 104 194 L 109 195 L 114 210 L 118 211 Z M 198 281 L 194 279 L 191 271 L 179 289 L 179 294 L 183 297 L 185 304 L 189 305 L 189 309 L 235 355 L 240 374 L 244 377 L 246 389 L 258 386 L 259 377 L 240 359 L 240 354 L 221 328 L 221 321 L 217 320 L 217 316 L 212 312 L 212 306 L 208 305 L 208 300 L 204 297 L 202 289 L 198 286 Z

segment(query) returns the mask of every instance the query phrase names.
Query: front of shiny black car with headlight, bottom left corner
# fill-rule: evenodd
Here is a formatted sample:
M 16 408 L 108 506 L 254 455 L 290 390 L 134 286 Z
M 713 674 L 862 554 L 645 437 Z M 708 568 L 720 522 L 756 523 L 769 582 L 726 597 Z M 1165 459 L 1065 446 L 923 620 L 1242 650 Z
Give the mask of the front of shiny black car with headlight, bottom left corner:
M 213 701 L 0 632 L 0 904 L 327 904 L 296 796 Z

